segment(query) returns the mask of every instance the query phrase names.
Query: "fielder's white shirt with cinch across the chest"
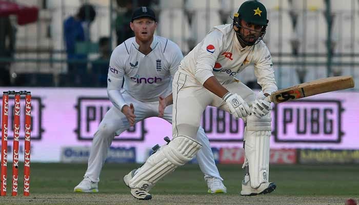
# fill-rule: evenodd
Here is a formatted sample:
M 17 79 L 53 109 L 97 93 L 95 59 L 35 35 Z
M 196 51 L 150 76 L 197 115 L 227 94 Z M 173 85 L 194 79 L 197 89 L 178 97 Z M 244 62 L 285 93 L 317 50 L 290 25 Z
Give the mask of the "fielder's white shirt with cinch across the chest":
M 125 77 L 121 93 L 127 91 L 144 102 L 157 101 L 160 95 L 166 97 L 172 92 L 173 75 L 183 59 L 181 49 L 161 36 L 153 37 L 149 54 L 141 53 L 138 48 L 135 37 L 132 37 L 114 49 L 110 58 L 107 89 L 120 91 Z M 120 108 L 122 106 L 118 105 Z

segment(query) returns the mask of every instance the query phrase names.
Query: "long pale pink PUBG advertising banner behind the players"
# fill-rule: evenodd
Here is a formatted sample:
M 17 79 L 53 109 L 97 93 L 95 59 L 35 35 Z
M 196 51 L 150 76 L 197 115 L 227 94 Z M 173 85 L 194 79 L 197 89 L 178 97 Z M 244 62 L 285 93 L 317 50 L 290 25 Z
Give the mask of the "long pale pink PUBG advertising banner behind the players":
M 90 147 L 99 122 L 112 106 L 107 99 L 106 88 L 22 87 L 0 90 L 28 90 L 32 93 L 33 162 L 58 162 L 61 160 L 62 148 Z M 356 140 L 359 116 L 357 101 L 359 93 L 331 92 L 273 104 L 271 149 L 359 149 L 359 141 Z M 24 104 L 23 97 L 19 154 L 24 153 Z M 13 107 L 14 100 L 10 98 L 9 110 Z M 13 112 L 9 111 L 9 124 L 13 120 L 13 114 L 10 113 Z M 237 163 L 243 160 L 243 155 L 237 153 L 243 146 L 243 120 L 236 120 L 220 109 L 207 107 L 201 125 L 211 147 L 218 151 L 218 161 Z M 13 128 L 9 126 L 8 129 L 8 156 L 11 161 Z M 111 146 L 135 148 L 136 162 L 141 163 L 148 157 L 148 149 L 156 144 L 165 144 L 163 138 L 171 136 L 171 133 L 172 126 L 166 120 L 150 117 L 116 136 Z M 24 158 L 19 155 L 19 160 L 23 161 Z

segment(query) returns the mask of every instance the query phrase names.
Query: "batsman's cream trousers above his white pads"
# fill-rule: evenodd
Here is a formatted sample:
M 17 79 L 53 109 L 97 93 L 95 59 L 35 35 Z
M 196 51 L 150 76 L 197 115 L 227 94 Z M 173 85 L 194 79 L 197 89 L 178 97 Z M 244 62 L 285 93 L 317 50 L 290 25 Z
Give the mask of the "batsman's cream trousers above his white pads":
M 247 103 L 255 99 L 254 92 L 237 79 L 228 80 L 223 86 L 231 93 L 240 95 Z M 207 106 L 229 112 L 222 98 L 207 90 L 195 78 L 178 71 L 173 77 L 172 95 L 173 137 L 183 135 L 195 137 L 200 127 L 202 113 Z

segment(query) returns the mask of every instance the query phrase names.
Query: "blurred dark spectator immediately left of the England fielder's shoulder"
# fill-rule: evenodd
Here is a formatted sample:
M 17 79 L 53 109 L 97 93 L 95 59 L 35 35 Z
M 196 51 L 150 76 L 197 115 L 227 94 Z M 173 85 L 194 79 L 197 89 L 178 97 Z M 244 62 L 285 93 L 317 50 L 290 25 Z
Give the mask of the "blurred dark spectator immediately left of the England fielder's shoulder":
M 99 57 L 92 62 L 92 74 L 96 87 L 107 86 L 107 71 L 111 57 L 109 37 L 101 37 L 98 40 Z

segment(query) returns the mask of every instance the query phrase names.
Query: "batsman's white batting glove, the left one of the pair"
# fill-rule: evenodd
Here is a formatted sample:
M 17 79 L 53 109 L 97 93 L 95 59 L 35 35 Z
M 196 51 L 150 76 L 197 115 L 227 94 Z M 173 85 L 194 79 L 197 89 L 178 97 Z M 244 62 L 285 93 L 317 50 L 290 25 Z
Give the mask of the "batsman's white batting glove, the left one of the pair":
M 223 96 L 222 99 L 226 101 L 230 113 L 236 119 L 247 117 L 247 115 L 251 114 L 251 109 L 241 96 L 228 92 Z

